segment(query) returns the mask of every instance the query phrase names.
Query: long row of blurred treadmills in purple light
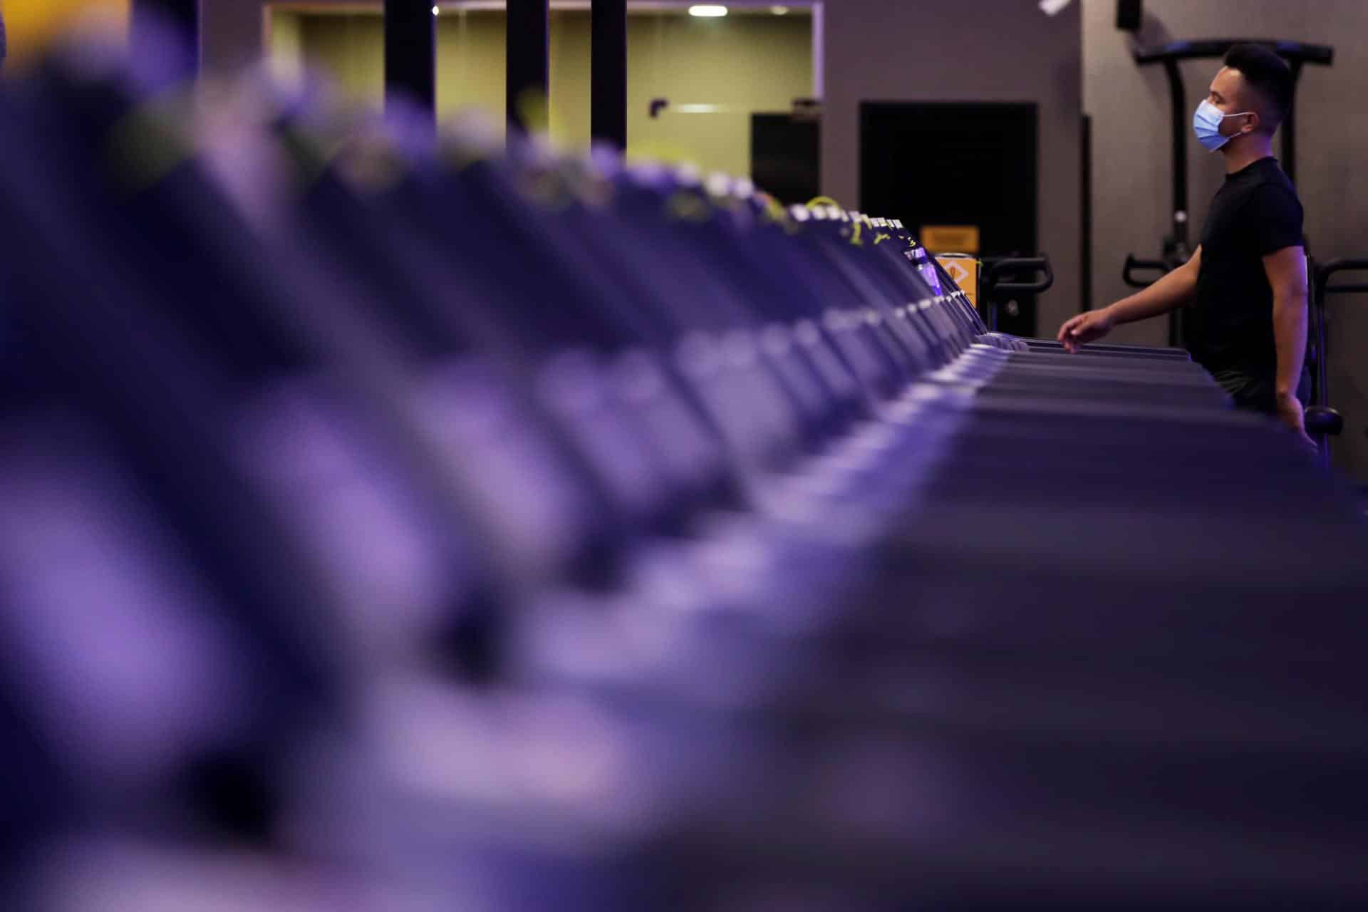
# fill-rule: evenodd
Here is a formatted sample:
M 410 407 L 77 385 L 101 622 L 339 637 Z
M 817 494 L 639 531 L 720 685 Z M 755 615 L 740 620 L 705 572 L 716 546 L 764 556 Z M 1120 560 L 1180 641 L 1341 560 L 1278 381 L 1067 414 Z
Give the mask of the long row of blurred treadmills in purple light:
M 896 223 L 85 45 L 0 321 L 0 908 L 1368 904 L 1349 498 Z

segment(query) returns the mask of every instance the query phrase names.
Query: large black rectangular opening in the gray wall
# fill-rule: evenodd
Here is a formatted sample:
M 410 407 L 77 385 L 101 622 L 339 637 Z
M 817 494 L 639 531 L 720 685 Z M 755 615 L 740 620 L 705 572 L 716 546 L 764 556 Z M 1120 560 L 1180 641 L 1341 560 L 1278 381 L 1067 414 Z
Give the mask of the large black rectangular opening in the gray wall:
M 921 226 L 974 226 L 979 257 L 1037 250 L 1034 104 L 860 104 L 862 212 Z M 1015 312 L 1014 312 L 1015 310 Z M 1036 301 L 1003 309 L 999 328 L 1036 335 Z

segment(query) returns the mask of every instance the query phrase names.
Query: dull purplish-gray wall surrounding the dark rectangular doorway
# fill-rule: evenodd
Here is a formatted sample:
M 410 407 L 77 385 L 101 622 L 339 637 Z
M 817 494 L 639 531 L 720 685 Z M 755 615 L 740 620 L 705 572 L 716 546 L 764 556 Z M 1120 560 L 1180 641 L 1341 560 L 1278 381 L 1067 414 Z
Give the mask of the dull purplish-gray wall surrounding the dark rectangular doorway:
M 859 200 L 860 101 L 1034 101 L 1040 105 L 1040 246 L 1055 287 L 1041 332 L 1077 313 L 1082 108 L 1078 4 L 1031 0 L 828 0 L 822 187 Z M 1011 205 L 1010 200 L 1003 201 Z

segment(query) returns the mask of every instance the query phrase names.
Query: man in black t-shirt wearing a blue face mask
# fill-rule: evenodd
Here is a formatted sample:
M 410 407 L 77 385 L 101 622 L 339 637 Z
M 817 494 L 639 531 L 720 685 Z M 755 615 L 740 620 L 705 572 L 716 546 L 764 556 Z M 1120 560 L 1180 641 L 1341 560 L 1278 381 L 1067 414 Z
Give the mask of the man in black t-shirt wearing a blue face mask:
M 1237 407 L 1276 416 L 1309 444 L 1302 208 L 1272 155 L 1291 94 L 1291 72 L 1272 49 L 1246 44 L 1226 55 L 1193 116 L 1197 139 L 1226 163 L 1197 252 L 1140 294 L 1068 320 L 1059 340 L 1077 351 L 1115 325 L 1192 305 L 1193 358 Z

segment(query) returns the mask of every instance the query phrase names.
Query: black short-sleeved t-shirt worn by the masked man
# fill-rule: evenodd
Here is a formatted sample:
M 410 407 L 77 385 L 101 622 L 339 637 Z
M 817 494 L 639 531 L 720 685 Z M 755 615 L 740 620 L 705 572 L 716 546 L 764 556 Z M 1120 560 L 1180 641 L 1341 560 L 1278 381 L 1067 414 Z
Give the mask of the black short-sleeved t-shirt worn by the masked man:
M 1197 294 L 1186 317 L 1192 356 L 1212 373 L 1276 376 L 1274 293 L 1263 257 L 1304 246 L 1301 228 L 1297 190 L 1276 159 L 1226 176 L 1207 215 Z

